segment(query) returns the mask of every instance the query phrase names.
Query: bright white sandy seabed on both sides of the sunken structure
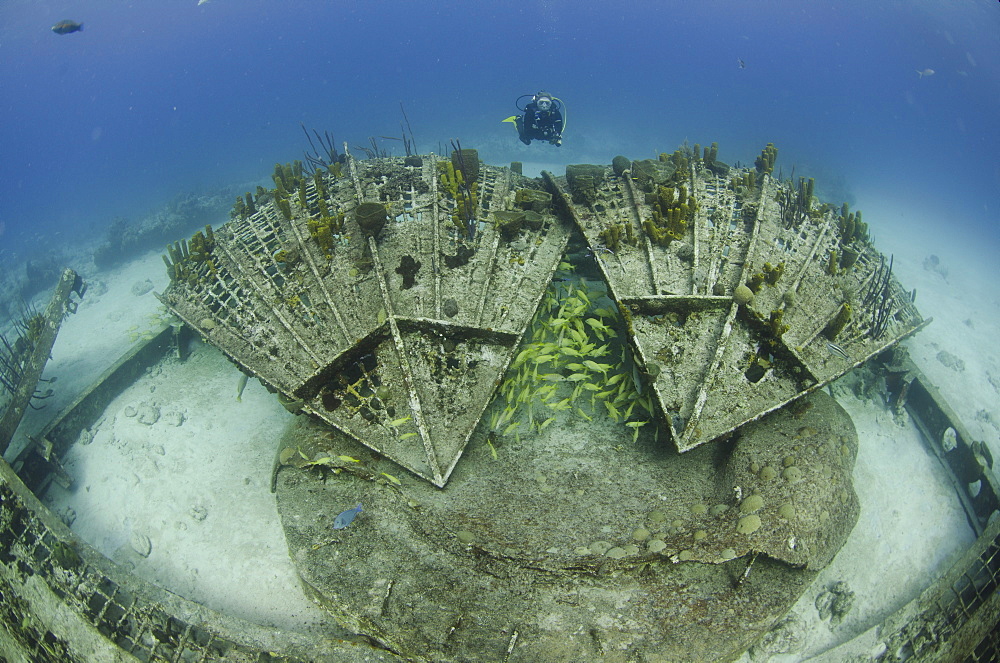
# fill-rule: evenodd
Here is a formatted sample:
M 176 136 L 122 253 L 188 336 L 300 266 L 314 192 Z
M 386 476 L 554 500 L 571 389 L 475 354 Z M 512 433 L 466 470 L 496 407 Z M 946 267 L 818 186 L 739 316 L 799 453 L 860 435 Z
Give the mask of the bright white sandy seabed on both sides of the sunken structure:
M 525 166 L 525 174 L 543 167 L 561 172 L 552 165 Z M 862 208 L 876 225 L 878 215 Z M 936 318 L 909 343 L 914 359 L 973 433 L 995 445 L 1000 361 L 990 336 L 1000 328 L 1000 308 L 995 295 L 984 300 L 976 289 L 988 272 L 976 276 L 959 249 L 931 243 L 934 250 L 901 235 L 892 246 L 879 246 L 897 254 L 897 274 L 918 288 L 921 312 Z M 924 257 L 935 251 L 950 268 L 947 279 L 923 269 Z M 54 387 L 63 404 L 124 353 L 129 327 L 148 327 L 145 316 L 159 304 L 151 294 L 130 291 L 146 278 L 157 290 L 166 285 L 157 254 L 90 279 L 92 291 L 64 324 L 46 371 L 58 376 Z M 964 360 L 965 369 L 942 364 L 941 350 Z M 251 621 L 308 630 L 323 615 L 299 588 L 269 491 L 274 452 L 290 415 L 256 381 L 237 403 L 238 376 L 220 353 L 200 343 L 185 362 L 168 361 L 144 376 L 107 410 L 93 441 L 70 451 L 74 489 L 53 488 L 47 500 L 56 512 L 72 509 L 74 530 L 99 550 L 162 587 Z M 803 660 L 879 623 L 974 539 L 947 475 L 912 425 L 895 421 L 880 404 L 858 401 L 849 385 L 835 385 L 833 392 L 860 435 L 854 479 L 861 519 L 793 608 L 798 649 L 773 660 Z M 159 419 L 141 423 L 151 408 L 158 408 Z M 37 430 L 57 409 L 35 413 L 22 430 Z M 998 451 L 994 446 L 1000 458 Z M 145 546 L 143 537 L 148 557 L 136 552 Z M 856 600 L 844 622 L 831 626 L 819 620 L 814 603 L 839 580 Z

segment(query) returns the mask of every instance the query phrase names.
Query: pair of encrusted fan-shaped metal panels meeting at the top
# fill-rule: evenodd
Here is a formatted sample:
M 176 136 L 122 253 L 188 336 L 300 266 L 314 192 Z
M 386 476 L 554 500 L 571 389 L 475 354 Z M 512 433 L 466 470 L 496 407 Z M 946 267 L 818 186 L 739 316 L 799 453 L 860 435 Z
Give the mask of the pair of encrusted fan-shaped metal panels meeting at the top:
M 290 408 L 443 486 L 575 225 L 687 451 L 925 324 L 860 212 L 773 177 L 776 157 L 685 146 L 542 179 L 461 149 L 279 165 L 274 190 L 170 247 L 163 300 Z

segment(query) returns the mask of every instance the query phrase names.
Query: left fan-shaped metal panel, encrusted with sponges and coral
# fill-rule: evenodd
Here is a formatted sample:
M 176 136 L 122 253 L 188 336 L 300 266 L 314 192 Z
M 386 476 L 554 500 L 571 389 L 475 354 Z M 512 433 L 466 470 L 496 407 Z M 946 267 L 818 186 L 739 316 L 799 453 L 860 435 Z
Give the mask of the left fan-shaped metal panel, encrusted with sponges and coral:
M 569 227 L 475 150 L 274 180 L 170 247 L 163 302 L 291 409 L 443 486 Z

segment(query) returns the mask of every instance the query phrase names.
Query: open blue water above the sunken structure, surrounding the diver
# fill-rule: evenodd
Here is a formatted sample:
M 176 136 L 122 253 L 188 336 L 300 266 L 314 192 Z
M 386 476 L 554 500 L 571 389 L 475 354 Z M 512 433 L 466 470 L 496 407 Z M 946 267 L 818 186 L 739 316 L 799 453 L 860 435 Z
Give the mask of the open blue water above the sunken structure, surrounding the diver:
M 752 163 L 774 142 L 778 169 L 816 177 L 824 199 L 863 209 L 884 191 L 1000 248 L 996 0 L 483 4 L 5 0 L 0 248 L 49 250 L 178 193 L 266 180 L 301 158 L 300 123 L 352 146 L 399 136 L 400 102 L 420 152 L 459 138 L 498 164 L 685 140 Z M 62 19 L 84 30 L 51 32 Z M 539 88 L 566 104 L 562 147 L 500 122 Z

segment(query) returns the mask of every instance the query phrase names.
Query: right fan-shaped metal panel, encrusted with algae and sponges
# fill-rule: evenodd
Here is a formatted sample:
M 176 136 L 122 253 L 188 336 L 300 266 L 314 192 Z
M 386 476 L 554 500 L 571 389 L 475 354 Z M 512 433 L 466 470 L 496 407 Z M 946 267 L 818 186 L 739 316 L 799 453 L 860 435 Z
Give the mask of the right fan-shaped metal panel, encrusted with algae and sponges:
M 618 301 L 680 451 L 840 377 L 923 326 L 861 214 L 717 148 L 546 174 Z

